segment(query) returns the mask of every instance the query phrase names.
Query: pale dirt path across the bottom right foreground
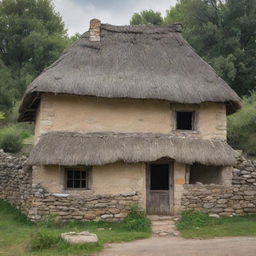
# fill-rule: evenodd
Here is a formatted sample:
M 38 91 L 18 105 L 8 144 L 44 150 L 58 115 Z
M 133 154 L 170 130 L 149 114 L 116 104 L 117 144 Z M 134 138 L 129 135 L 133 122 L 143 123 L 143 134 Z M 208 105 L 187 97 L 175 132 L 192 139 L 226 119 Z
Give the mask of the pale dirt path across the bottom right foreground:
M 152 237 L 108 244 L 97 256 L 256 256 L 256 237 L 209 240 Z

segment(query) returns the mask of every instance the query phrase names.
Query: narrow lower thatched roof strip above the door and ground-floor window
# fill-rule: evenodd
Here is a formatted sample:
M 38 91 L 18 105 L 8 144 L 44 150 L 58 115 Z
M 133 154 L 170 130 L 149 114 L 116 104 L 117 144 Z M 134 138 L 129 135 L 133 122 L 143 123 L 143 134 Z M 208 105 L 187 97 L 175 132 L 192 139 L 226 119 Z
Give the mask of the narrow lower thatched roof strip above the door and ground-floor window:
M 177 162 L 233 165 L 235 152 L 221 140 L 152 133 L 49 132 L 40 137 L 29 165 L 103 165 L 151 162 L 163 157 Z

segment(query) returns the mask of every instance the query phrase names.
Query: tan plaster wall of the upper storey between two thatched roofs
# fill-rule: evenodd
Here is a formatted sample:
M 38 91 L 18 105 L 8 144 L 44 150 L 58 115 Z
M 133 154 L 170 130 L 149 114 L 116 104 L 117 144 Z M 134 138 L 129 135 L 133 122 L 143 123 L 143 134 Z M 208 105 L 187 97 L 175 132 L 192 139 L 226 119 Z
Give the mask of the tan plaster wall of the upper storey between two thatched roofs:
M 175 131 L 177 109 L 196 111 L 195 131 Z M 35 129 L 36 138 L 48 131 L 115 131 L 226 139 L 226 108 L 222 103 L 183 105 L 160 100 L 43 94 Z

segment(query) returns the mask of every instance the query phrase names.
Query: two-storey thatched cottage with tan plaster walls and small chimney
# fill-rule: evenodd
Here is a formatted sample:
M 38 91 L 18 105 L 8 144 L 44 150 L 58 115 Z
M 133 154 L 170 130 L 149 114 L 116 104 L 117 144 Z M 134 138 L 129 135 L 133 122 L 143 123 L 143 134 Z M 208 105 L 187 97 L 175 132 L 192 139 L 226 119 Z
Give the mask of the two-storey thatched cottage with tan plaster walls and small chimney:
M 34 186 L 67 202 L 133 195 L 148 214 L 172 215 L 183 209 L 184 184 L 230 184 L 226 117 L 241 100 L 181 30 L 93 19 L 32 82 L 19 121 L 35 122 Z

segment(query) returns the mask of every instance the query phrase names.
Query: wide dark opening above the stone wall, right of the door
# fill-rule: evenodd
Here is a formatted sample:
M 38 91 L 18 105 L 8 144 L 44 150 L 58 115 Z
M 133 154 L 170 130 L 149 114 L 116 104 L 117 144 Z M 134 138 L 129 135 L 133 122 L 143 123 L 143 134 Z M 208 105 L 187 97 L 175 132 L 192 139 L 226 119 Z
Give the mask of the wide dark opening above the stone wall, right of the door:
M 221 184 L 222 167 L 193 164 L 190 167 L 189 183 Z

